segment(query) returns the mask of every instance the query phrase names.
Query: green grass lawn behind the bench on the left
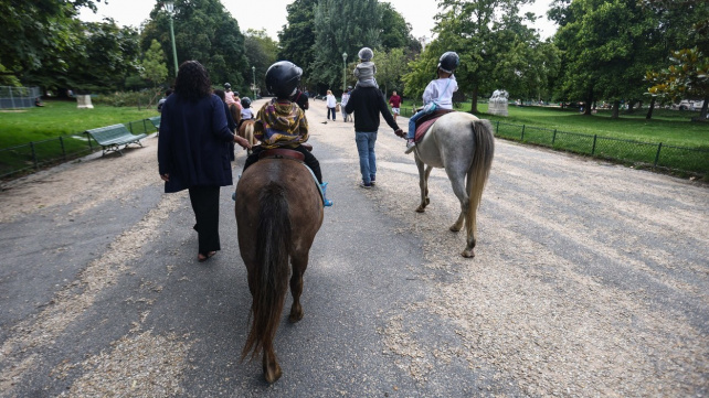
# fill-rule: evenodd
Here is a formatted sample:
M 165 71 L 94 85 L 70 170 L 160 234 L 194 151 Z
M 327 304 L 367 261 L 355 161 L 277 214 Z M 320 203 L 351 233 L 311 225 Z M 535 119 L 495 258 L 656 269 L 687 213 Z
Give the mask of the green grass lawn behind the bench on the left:
M 159 115 L 155 108 L 139 110 L 137 107 L 94 105 L 94 109 L 76 109 L 75 101 L 49 100 L 44 104 L 41 108 L 0 110 L 0 149 Z

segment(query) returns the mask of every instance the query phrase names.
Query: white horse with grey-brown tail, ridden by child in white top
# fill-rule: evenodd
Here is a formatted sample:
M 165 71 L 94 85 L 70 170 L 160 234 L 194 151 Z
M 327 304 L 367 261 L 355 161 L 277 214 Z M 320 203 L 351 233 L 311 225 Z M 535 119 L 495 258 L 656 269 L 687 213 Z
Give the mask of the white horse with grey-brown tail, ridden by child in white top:
M 490 173 L 494 152 L 495 139 L 489 120 L 465 112 L 451 112 L 438 118 L 414 149 L 421 186 L 421 205 L 416 212 L 423 213 L 430 203 L 431 170 L 445 169 L 453 192 L 461 201 L 461 215 L 451 230 L 457 233 L 465 222 L 467 232 L 463 257 L 475 257 L 476 213 Z

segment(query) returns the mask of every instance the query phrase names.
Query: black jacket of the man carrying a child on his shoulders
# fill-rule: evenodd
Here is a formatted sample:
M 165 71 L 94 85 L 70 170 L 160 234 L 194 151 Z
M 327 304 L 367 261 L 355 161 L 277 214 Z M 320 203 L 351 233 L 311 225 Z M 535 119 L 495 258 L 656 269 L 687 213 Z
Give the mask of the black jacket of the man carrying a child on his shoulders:
M 350 100 L 345 106 L 348 114 L 354 112 L 354 131 L 374 132 L 379 130 L 379 114 L 384 117 L 387 125 L 399 130 L 399 126 L 389 111 L 384 95 L 377 87 L 354 87 Z

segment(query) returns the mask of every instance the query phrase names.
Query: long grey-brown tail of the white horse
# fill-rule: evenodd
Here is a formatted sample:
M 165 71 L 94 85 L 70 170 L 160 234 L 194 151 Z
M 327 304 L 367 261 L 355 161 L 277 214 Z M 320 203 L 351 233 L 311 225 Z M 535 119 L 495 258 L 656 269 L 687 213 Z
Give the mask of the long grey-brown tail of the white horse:
M 474 120 L 470 123 L 470 128 L 475 136 L 475 153 L 468 170 L 468 223 L 466 223 L 465 228 L 468 236 L 476 237 L 477 208 L 480 205 L 483 190 L 493 166 L 495 137 L 493 135 L 493 125 L 490 125 L 489 120 Z

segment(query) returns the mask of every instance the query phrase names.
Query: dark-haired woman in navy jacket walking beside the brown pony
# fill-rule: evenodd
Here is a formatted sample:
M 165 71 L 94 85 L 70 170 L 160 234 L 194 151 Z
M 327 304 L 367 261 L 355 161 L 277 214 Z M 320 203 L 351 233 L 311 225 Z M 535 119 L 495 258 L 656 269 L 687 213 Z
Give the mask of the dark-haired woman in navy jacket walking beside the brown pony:
M 189 190 L 199 235 L 198 260 L 221 249 L 219 191 L 232 185 L 229 143 L 248 148 L 226 125 L 224 105 L 212 94 L 209 73 L 197 61 L 180 65 L 174 93 L 162 106 L 158 163 L 165 192 Z

